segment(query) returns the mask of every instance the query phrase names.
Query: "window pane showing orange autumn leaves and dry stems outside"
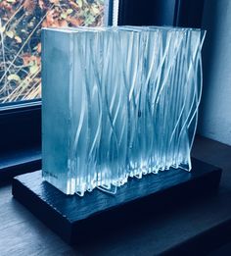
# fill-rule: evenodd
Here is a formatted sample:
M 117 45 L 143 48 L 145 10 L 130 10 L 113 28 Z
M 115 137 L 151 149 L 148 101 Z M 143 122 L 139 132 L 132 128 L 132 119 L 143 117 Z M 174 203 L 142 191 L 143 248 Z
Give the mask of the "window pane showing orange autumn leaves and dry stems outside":
M 1 0 L 0 103 L 41 97 L 41 27 L 102 26 L 104 0 Z

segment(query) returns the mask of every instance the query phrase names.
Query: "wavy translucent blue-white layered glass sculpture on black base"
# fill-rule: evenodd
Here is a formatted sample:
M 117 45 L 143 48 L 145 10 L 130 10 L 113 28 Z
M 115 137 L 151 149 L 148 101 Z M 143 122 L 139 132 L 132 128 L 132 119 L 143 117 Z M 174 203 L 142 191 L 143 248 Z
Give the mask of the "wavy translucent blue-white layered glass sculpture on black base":
M 158 26 L 43 29 L 43 178 L 82 196 L 190 171 L 204 37 Z

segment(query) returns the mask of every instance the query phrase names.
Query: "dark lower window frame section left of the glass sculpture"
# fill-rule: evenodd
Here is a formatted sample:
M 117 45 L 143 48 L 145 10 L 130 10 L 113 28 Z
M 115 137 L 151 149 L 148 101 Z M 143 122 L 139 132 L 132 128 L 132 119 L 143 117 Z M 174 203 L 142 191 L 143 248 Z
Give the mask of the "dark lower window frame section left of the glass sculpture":
M 41 169 L 41 100 L 0 108 L 0 183 Z

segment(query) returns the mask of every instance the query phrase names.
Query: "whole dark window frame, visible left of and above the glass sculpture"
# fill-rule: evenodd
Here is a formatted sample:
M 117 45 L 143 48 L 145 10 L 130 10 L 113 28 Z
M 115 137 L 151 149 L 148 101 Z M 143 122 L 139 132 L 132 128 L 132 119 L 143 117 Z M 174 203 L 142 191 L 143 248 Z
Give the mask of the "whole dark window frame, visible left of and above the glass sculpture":
M 192 26 L 202 23 L 205 0 L 146 0 L 142 12 L 139 0 L 119 0 L 118 25 Z M 113 0 L 107 0 L 108 24 L 113 25 Z M 190 6 L 190 8 L 188 8 Z M 164 10 L 159 18 L 147 19 L 147 10 Z M 165 13 L 165 10 L 167 12 Z M 148 12 L 150 15 L 150 11 Z M 0 106 L 0 183 L 16 175 L 41 169 L 42 99 L 6 103 Z M 9 133 L 11 134 L 9 136 Z M 4 135 L 5 134 L 5 135 Z

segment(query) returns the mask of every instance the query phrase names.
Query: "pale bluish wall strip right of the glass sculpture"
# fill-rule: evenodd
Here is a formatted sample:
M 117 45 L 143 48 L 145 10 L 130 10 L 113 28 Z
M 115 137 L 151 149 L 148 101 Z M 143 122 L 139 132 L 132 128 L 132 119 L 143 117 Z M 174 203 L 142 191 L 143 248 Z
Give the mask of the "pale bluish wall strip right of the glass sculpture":
M 231 1 L 206 0 L 204 91 L 198 133 L 231 145 Z

